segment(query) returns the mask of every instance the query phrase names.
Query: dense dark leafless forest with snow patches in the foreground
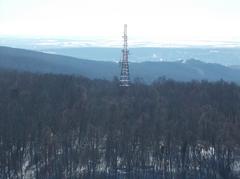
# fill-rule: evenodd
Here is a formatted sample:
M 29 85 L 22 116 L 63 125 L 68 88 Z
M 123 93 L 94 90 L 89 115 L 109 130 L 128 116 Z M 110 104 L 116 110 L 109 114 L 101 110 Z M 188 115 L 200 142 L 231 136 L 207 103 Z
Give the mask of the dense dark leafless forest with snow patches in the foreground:
M 0 178 L 234 179 L 240 87 L 0 72 Z

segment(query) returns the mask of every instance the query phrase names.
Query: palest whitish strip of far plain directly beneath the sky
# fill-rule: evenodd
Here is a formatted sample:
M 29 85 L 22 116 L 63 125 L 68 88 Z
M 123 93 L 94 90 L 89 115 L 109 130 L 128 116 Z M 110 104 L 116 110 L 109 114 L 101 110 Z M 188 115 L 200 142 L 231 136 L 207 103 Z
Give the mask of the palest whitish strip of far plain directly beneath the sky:
M 81 47 L 105 47 L 121 48 L 122 39 L 92 37 L 23 37 L 0 35 L 0 45 L 15 46 L 16 44 L 33 47 L 58 47 L 58 48 L 81 48 Z M 17 46 L 18 46 L 17 45 Z M 135 40 L 129 39 L 130 48 L 239 48 L 240 41 L 231 40 Z

